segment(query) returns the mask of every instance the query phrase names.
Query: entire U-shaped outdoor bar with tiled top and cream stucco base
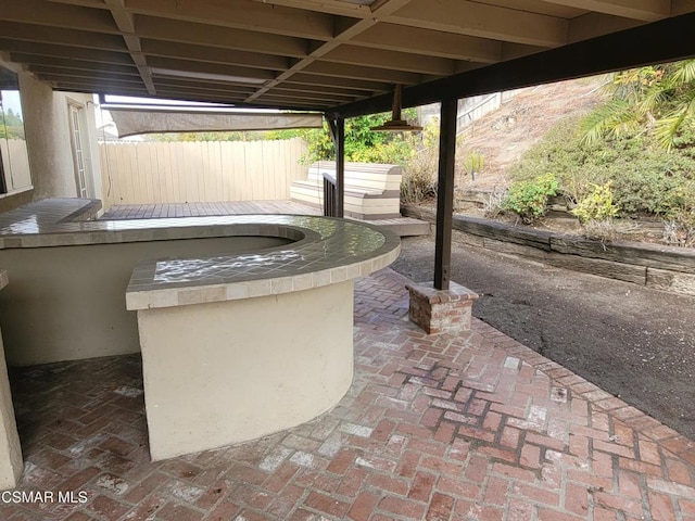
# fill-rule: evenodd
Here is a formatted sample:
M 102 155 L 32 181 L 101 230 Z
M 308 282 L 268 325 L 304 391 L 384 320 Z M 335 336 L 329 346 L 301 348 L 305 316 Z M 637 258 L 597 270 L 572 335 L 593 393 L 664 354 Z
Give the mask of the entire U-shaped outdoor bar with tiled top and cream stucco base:
M 153 459 L 298 425 L 348 392 L 354 279 L 397 257 L 395 234 L 316 216 L 79 211 L 48 200 L 0 216 L 0 264 L 16 281 L 0 294 L 8 360 L 139 350 Z

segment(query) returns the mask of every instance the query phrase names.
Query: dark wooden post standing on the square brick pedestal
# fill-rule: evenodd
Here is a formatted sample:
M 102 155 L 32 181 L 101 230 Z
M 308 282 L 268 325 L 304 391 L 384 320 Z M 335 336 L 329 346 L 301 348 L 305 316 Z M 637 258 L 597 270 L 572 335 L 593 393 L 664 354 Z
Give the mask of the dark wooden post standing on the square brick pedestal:
M 456 113 L 458 100 L 442 100 L 439 132 L 439 182 L 437 187 L 437 236 L 434 289 L 448 290 L 454 214 L 454 164 L 456 156 Z

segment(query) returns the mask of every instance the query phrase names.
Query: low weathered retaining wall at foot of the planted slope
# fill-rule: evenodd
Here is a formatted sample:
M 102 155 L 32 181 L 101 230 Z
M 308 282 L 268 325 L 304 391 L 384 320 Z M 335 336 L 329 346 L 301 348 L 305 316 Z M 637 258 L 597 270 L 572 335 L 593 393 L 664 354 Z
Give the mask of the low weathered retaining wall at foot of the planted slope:
M 404 216 L 434 223 L 434 212 L 415 206 Z M 647 288 L 695 295 L 695 250 L 616 241 L 521 228 L 495 220 L 454 215 L 464 241 L 495 252 L 529 257 L 560 268 L 623 280 Z

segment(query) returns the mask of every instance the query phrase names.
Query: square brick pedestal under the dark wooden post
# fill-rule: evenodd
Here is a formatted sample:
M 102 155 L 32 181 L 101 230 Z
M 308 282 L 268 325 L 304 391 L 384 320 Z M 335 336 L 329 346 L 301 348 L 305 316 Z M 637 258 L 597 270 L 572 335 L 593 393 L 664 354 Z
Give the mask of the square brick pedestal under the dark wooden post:
M 478 295 L 455 282 L 435 290 L 432 283 L 406 284 L 410 293 L 409 318 L 428 334 L 470 330 L 470 312 Z

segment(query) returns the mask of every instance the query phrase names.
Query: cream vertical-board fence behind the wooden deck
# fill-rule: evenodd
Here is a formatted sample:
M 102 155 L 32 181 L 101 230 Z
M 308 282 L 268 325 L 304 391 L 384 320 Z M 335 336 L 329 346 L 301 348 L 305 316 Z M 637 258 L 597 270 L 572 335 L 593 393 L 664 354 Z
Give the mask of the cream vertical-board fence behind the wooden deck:
M 103 206 L 290 199 L 306 144 L 283 141 L 100 143 Z

